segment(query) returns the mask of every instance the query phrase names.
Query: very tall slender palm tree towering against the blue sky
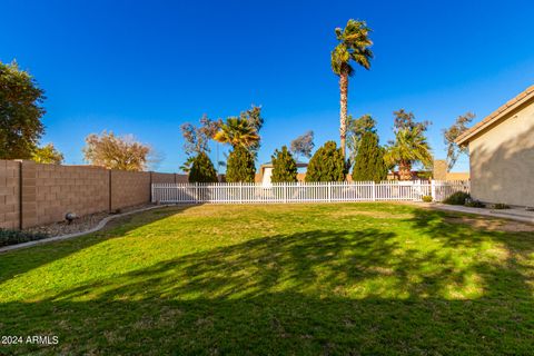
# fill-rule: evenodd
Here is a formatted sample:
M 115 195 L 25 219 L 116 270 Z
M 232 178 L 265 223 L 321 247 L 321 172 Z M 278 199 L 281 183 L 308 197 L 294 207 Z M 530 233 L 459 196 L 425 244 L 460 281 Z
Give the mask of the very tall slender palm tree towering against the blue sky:
M 345 157 L 345 140 L 347 132 L 347 96 L 348 77 L 354 75 L 354 68 L 350 61 L 364 67 L 370 68 L 373 52 L 369 39 L 372 30 L 365 21 L 348 20 L 345 29 L 336 29 L 336 38 L 339 43 L 332 51 L 332 70 L 339 76 L 340 110 L 339 110 L 339 136 L 343 157 Z

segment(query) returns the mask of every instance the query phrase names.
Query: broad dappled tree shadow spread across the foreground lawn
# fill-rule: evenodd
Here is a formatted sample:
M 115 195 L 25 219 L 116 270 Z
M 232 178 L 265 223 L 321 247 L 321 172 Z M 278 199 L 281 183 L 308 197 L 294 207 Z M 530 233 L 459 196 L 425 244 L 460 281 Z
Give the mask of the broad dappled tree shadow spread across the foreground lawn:
M 261 237 L 3 304 L 1 323 L 60 336 L 17 353 L 532 353 L 532 240 L 475 235 L 443 216 L 407 221 L 443 248 L 377 229 Z

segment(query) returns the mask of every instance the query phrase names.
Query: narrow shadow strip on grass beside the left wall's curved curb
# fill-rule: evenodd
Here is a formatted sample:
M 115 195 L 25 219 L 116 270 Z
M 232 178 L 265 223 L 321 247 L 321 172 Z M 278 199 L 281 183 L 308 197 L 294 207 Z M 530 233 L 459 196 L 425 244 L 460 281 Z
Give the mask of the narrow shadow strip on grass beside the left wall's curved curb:
M 0 284 L 31 269 L 61 259 L 85 248 L 106 240 L 123 237 L 128 231 L 149 225 L 172 215 L 181 214 L 192 206 L 168 207 L 139 212 L 111 220 L 95 234 L 71 239 L 37 245 L 33 247 L 0 254 Z M 9 268 L 2 268 L 9 266 Z M 16 268 L 13 268 L 16 267 Z

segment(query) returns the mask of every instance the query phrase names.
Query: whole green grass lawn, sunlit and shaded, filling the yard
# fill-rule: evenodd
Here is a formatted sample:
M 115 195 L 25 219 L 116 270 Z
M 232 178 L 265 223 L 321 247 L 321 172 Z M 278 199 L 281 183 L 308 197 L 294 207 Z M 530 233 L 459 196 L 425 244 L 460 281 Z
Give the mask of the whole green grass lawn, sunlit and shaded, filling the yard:
M 534 233 L 459 220 L 387 204 L 164 208 L 2 254 L 0 334 L 59 344 L 0 354 L 533 354 Z

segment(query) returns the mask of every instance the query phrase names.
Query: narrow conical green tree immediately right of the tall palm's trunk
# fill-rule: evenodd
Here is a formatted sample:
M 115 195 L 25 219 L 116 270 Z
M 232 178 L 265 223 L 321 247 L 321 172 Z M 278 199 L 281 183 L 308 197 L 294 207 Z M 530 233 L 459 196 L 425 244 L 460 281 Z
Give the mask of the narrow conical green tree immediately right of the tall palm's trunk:
M 387 178 L 384 148 L 378 145 L 378 135 L 367 131 L 363 135 L 356 156 L 353 180 L 382 181 Z

